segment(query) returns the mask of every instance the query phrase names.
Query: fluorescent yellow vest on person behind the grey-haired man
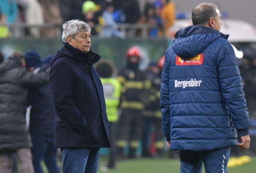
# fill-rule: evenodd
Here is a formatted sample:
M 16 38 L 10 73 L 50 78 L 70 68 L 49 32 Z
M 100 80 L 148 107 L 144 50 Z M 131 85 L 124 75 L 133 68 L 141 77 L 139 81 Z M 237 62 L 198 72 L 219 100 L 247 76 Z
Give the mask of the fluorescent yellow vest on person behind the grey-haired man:
M 114 78 L 101 78 L 109 122 L 118 119 L 117 108 L 120 103 L 121 83 Z

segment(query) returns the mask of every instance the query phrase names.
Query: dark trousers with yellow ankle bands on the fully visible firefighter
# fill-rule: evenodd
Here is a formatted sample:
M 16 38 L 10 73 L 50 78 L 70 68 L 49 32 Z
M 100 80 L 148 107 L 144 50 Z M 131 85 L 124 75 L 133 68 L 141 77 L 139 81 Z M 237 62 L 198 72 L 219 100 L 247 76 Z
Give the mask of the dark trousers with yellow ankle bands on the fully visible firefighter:
M 122 109 L 118 121 L 117 153 L 122 158 L 124 148 L 129 144 L 129 157 L 136 157 L 142 130 L 142 111 L 134 109 Z

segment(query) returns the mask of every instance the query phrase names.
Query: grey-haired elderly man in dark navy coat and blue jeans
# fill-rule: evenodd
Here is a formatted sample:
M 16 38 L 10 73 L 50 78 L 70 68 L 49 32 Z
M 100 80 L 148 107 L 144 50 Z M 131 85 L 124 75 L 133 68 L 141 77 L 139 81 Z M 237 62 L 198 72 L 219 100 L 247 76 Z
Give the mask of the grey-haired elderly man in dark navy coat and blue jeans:
M 64 46 L 50 63 L 54 146 L 61 148 L 63 173 L 97 172 L 100 147 L 110 147 L 103 88 L 93 67 L 101 57 L 90 50 L 87 23 L 69 20 L 62 28 Z

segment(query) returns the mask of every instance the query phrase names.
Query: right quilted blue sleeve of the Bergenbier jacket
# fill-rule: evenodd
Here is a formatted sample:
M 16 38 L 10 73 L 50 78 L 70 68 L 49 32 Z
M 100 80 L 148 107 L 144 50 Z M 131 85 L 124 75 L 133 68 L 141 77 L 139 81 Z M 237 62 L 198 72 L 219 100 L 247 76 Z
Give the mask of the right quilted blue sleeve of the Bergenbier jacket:
M 219 52 L 217 66 L 221 92 L 229 115 L 239 135 L 245 136 L 248 134 L 250 119 L 235 52 L 228 42 L 222 46 Z

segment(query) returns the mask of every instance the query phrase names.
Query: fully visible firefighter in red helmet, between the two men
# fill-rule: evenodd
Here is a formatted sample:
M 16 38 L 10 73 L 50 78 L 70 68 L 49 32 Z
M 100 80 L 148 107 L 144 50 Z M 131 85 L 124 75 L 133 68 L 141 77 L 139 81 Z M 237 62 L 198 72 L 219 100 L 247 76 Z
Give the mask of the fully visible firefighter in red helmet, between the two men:
M 124 148 L 127 144 L 129 144 L 128 158 L 135 158 L 141 138 L 142 111 L 147 100 L 145 91 L 150 87 L 145 72 L 139 70 L 141 58 L 138 47 L 129 48 L 126 52 L 126 67 L 117 75 L 117 79 L 122 84 L 121 115 L 117 134 L 117 153 L 120 159 L 124 158 Z

